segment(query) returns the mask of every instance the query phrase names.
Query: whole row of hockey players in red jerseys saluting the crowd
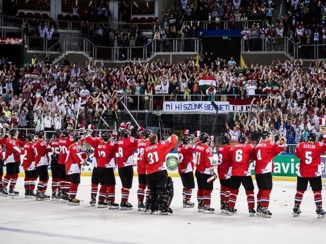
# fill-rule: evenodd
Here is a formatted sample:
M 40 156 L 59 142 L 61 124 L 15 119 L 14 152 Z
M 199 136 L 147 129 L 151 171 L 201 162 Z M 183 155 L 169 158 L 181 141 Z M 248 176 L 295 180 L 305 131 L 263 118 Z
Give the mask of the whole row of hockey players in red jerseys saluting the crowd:
M 92 159 L 91 177 L 91 206 L 109 209 L 132 209 L 129 201 L 129 192 L 133 179 L 133 155 L 137 150 L 137 172 L 139 179 L 138 210 L 157 212 L 159 215 L 173 213 L 170 204 L 174 195 L 173 182 L 168 176 L 166 156 L 177 144 L 176 135 L 171 135 L 167 140 L 160 141 L 156 134 L 149 129 L 139 127 L 139 136 L 130 136 L 133 127 L 130 123 L 121 123 L 117 131 L 102 132 L 93 137 L 94 126 L 87 130 L 78 127 L 78 133 L 70 128 L 64 131 L 56 130 L 50 142 L 46 142 L 45 132 L 37 131 L 36 135 L 29 134 L 25 143 L 18 137 L 18 131 L 12 129 L 9 136 L 0 139 L 0 143 L 6 146 L 5 159 L 1 160 L 0 179 L 2 188 L 1 196 L 19 195 L 15 190 L 20 163 L 25 171 L 24 188 L 25 198 L 35 198 L 36 201 L 49 200 L 62 201 L 68 205 L 79 205 L 76 199 L 78 185 L 80 184 L 80 168 L 86 165 L 88 156 L 94 151 Z M 297 186 L 294 199 L 293 216 L 301 214 L 300 204 L 303 195 L 310 184 L 316 214 L 323 218 L 325 212 L 322 209 L 321 197 L 321 161 L 320 155 L 326 151 L 326 130 L 322 131 L 323 141 L 317 142 L 316 135 L 309 133 L 306 142 L 297 145 L 295 156 L 300 159 L 300 167 L 297 173 Z M 238 136 L 238 144 L 230 145 L 230 136 L 223 133 L 222 145 L 218 148 L 217 175 L 213 167 L 212 137 L 207 133 L 195 132 L 196 143 L 191 145 L 189 131 L 183 131 L 182 143 L 178 145 L 178 172 L 182 180 L 183 207 L 194 207 L 191 202 L 192 191 L 195 189 L 195 177 L 197 180 L 198 211 L 214 213 L 211 207 L 211 194 L 213 182 L 219 177 L 221 190 L 221 212 L 234 215 L 237 195 L 241 184 L 247 195 L 250 216 L 270 218 L 268 210 L 269 196 L 273 188 L 272 175 L 274 157 L 282 153 L 286 147 L 286 138 L 278 141 L 269 131 L 263 131 L 261 140 L 256 147 L 248 143 L 245 135 Z M 91 147 L 82 152 L 80 143 L 87 142 Z M 49 158 L 48 154 L 51 154 Z M 20 155 L 23 160 L 20 162 Z M 193 157 L 195 155 L 195 157 Z M 255 200 L 254 184 L 250 171 L 250 163 L 256 161 L 255 176 L 258 192 Z M 3 163 L 7 167 L 7 173 L 2 180 Z M 52 172 L 52 195 L 46 194 L 49 180 L 48 165 Z M 194 166 L 196 166 L 194 177 Z M 122 182 L 120 205 L 115 202 L 116 179 L 114 170 L 118 168 L 119 178 Z M 35 193 L 36 181 L 37 191 Z M 7 187 L 9 185 L 9 192 Z M 98 186 L 99 197 L 97 200 Z M 147 190 L 146 190 L 147 188 Z M 255 203 L 257 207 L 255 209 Z

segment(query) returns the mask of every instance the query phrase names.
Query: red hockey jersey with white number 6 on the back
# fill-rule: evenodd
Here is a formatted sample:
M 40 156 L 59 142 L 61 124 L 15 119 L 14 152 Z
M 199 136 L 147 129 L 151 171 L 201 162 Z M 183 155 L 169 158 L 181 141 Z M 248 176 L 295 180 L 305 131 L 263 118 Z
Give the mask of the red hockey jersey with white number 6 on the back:
M 250 176 L 250 160 L 255 159 L 255 148 L 251 144 L 239 143 L 231 147 L 232 176 Z

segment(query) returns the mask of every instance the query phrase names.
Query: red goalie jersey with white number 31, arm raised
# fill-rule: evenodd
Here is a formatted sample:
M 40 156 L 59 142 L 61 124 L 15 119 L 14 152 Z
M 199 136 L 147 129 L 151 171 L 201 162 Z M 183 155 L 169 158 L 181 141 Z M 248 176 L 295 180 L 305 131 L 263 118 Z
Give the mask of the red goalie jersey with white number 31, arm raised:
M 165 163 L 166 156 L 177 142 L 178 137 L 176 135 L 171 135 L 167 140 L 159 141 L 145 148 L 144 162 L 147 174 L 167 169 Z

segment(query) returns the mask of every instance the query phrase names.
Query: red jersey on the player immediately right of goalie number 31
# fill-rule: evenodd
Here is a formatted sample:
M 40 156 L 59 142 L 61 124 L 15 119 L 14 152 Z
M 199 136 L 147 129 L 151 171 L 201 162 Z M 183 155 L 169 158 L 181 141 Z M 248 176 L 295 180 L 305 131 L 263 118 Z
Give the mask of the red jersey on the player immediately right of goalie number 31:
M 178 145 L 178 172 L 179 174 L 184 174 L 194 171 L 194 153 L 195 148 L 192 145 Z

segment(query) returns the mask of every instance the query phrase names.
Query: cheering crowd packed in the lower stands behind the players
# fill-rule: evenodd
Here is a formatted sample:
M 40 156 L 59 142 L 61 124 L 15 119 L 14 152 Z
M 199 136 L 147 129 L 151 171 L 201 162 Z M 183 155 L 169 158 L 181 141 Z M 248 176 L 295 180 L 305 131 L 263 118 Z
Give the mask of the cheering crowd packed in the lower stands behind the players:
M 115 68 L 104 68 L 97 60 L 89 60 L 85 66 L 53 66 L 48 55 L 44 61 L 33 58 L 35 65 L 19 69 L 3 58 L 0 120 L 12 127 L 33 125 L 50 130 L 74 124 L 78 107 L 78 124 L 98 123 L 102 113 L 107 120 L 118 121 L 116 102 L 123 95 L 130 110 L 149 110 L 149 101 L 153 99 L 155 104 L 163 95 L 165 101 L 249 97 L 255 98 L 252 111 L 232 114 L 227 120 L 232 139 L 241 130 L 248 130 L 253 140 L 263 129 L 270 130 L 286 136 L 289 143 L 305 139 L 310 131 L 319 133 L 318 126 L 324 124 L 326 112 L 325 62 L 313 62 L 306 71 L 301 60 L 241 68 L 233 58 L 209 60 L 212 55 L 205 53 L 199 60 L 191 57 L 176 64 L 166 60 L 147 64 L 126 60 L 124 66 Z M 203 97 L 205 90 L 198 86 L 201 76 L 214 77 L 213 96 L 221 96 Z M 264 93 L 266 86 L 276 89 Z

